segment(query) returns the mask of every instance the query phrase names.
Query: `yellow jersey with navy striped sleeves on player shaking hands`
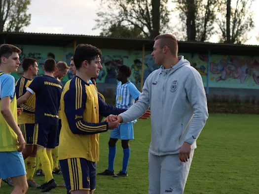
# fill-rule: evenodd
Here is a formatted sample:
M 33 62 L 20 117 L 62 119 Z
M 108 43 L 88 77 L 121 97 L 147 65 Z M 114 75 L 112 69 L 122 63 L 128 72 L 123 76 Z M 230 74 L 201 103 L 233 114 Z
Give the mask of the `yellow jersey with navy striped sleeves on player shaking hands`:
M 59 160 L 84 158 L 99 160 L 99 133 L 108 130 L 108 123 L 99 123 L 99 114 L 120 114 L 119 109 L 106 104 L 95 85 L 74 76 L 68 81 L 61 95 L 62 128 L 59 139 Z

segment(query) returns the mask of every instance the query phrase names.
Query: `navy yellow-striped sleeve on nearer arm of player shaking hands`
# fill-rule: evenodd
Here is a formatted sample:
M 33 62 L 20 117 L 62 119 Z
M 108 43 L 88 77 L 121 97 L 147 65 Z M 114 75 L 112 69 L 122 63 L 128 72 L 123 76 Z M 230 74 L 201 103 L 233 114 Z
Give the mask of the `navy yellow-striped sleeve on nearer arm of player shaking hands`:
M 72 87 L 64 95 L 65 114 L 69 123 L 69 128 L 74 134 L 96 134 L 106 132 L 108 123 L 88 123 L 83 120 L 83 114 L 86 103 L 86 93 L 83 93 L 82 87 Z

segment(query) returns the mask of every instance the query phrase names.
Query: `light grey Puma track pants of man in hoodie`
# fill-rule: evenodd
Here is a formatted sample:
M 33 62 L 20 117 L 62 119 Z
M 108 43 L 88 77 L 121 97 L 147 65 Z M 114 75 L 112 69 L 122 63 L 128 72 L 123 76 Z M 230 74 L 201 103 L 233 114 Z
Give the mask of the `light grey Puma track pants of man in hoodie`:
M 188 162 L 179 154 L 156 156 L 148 152 L 148 194 L 183 194 L 194 150 Z

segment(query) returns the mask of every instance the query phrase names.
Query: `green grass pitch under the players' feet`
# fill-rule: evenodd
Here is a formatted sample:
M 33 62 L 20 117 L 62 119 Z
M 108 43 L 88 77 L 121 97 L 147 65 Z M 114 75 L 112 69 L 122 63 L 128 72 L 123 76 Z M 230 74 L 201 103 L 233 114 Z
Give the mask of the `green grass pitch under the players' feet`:
M 210 114 L 197 140 L 193 162 L 185 186 L 185 194 L 258 194 L 259 184 L 259 116 Z M 130 142 L 131 158 L 128 177 L 114 179 L 97 176 L 95 194 L 147 194 L 148 147 L 150 120 L 139 120 L 134 125 L 135 140 Z M 100 135 L 100 162 L 97 172 L 108 167 L 108 141 L 110 132 Z M 117 143 L 114 170 L 122 163 L 122 148 Z M 58 184 L 62 175 L 54 176 Z M 35 176 L 38 184 L 43 178 Z M 12 187 L 1 183 L 0 194 L 10 194 Z M 27 194 L 39 194 L 29 188 Z M 51 194 L 65 194 L 57 188 Z

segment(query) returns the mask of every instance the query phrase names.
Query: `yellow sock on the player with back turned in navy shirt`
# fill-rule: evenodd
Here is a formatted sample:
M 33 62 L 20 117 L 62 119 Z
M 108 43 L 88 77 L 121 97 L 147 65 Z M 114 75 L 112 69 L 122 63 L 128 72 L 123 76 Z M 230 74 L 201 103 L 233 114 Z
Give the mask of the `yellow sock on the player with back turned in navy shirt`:
M 37 150 L 39 161 L 41 162 L 41 168 L 45 174 L 45 183 L 53 179 L 52 168 L 48 159 L 46 148 Z

